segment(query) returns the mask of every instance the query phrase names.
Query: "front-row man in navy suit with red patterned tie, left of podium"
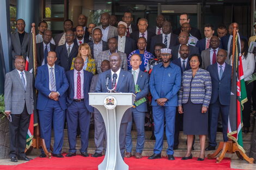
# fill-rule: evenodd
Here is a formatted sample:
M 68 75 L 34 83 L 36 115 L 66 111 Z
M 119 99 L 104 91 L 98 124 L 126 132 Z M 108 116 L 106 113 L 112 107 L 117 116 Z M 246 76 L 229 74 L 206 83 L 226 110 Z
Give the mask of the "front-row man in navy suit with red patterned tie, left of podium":
M 66 122 L 68 123 L 69 153 L 67 157 L 76 155 L 76 135 L 79 121 L 81 131 L 81 149 L 82 156 L 89 156 L 87 153 L 89 143 L 90 112 L 93 112 L 89 105 L 90 81 L 93 73 L 83 70 L 83 58 L 77 57 L 74 61 L 74 70 L 66 72 L 66 78 L 69 82 L 68 89 L 68 108 L 66 112 Z

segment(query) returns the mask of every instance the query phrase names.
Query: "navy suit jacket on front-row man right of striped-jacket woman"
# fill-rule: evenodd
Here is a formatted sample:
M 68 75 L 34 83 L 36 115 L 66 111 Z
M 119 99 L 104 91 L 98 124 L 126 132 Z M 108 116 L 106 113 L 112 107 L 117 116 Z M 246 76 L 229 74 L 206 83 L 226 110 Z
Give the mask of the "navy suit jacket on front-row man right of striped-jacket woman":
M 209 65 L 207 71 L 209 71 L 211 75 L 211 85 L 212 85 L 212 93 L 211 93 L 211 102 L 215 103 L 217 99 L 220 100 L 222 105 L 230 104 L 230 94 L 231 94 L 231 72 L 232 67 L 225 64 L 225 69 L 222 74 L 222 78 L 220 79 L 218 76 L 218 65 L 217 62 L 213 65 Z

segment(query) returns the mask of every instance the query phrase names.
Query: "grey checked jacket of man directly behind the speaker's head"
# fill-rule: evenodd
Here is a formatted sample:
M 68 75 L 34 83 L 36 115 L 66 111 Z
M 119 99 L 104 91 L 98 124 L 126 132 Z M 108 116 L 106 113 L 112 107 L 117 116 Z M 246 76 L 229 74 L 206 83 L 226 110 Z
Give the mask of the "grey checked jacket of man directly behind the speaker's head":
M 120 55 L 121 60 L 122 60 L 121 69 L 127 70 L 127 55 L 120 51 L 117 51 L 117 53 Z M 111 54 L 109 54 L 109 50 L 106 50 L 106 51 L 100 52 L 98 56 L 94 56 L 94 59 L 96 62 L 97 73 L 101 73 L 101 70 L 100 70 L 101 62 L 103 60 L 109 60 L 110 55 Z

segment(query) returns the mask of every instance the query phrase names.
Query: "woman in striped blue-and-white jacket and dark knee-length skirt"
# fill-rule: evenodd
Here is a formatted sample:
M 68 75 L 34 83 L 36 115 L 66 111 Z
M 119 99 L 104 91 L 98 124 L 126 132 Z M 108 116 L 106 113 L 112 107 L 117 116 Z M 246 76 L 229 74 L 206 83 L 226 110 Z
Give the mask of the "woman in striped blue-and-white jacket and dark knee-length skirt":
M 178 111 L 184 114 L 183 133 L 187 135 L 187 153 L 182 160 L 192 159 L 191 148 L 194 135 L 199 135 L 201 152 L 197 159 L 204 160 L 205 139 L 208 134 L 208 106 L 211 100 L 210 73 L 199 66 L 202 58 L 192 55 L 189 59 L 191 70 L 182 75 L 179 91 Z

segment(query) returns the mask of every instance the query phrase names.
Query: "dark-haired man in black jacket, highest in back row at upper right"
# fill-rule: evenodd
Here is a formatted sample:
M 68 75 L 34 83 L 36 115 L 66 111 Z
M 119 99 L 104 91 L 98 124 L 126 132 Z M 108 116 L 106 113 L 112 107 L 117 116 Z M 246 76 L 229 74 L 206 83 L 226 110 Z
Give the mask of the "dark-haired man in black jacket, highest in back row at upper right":
M 182 13 L 180 14 L 180 26 L 182 25 L 182 23 L 185 23 L 185 22 L 190 23 L 190 16 L 187 13 Z M 173 30 L 173 33 L 176 35 L 179 35 L 180 32 L 181 32 L 181 27 Z M 194 37 L 197 37 L 198 40 L 201 39 L 201 33 L 197 28 L 191 27 L 190 34 Z

